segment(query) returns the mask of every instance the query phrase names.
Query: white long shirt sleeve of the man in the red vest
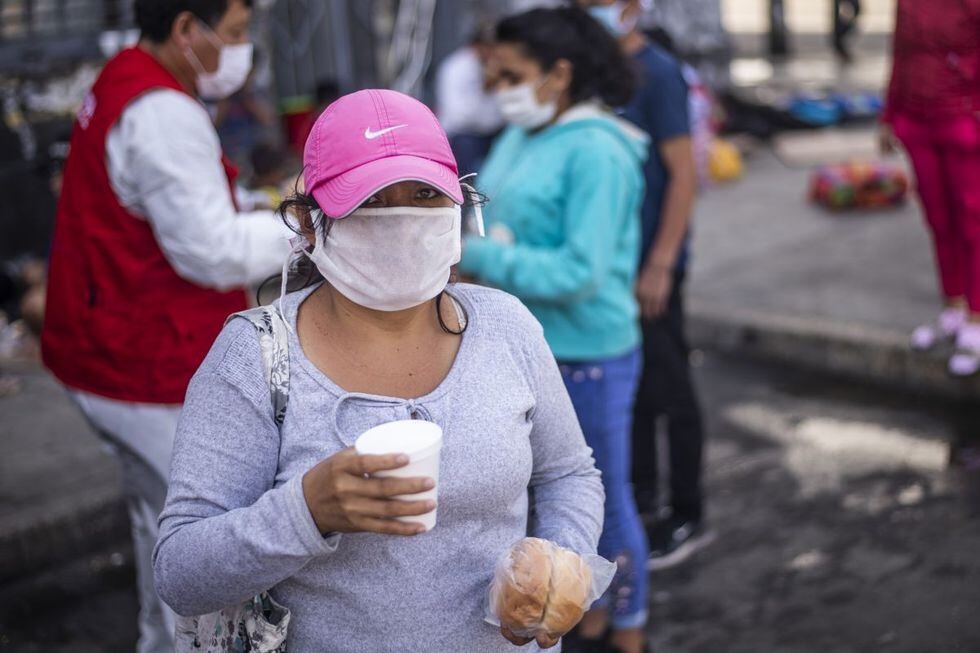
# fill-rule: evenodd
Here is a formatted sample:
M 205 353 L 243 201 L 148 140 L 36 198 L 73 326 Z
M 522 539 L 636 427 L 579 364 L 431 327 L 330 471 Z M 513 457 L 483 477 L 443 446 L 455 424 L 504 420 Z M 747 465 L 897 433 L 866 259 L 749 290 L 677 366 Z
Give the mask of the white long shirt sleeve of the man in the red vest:
M 235 209 L 218 133 L 194 98 L 160 89 L 130 103 L 106 139 L 106 167 L 184 279 L 230 290 L 281 269 L 294 234 L 272 211 Z

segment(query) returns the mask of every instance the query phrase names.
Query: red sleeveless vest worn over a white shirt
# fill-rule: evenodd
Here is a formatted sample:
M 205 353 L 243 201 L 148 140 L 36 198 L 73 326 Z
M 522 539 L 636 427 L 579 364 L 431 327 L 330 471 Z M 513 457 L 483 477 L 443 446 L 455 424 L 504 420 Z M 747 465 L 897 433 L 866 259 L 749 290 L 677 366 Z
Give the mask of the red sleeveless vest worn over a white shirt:
M 58 203 L 41 335 L 44 364 L 65 385 L 111 399 L 181 403 L 243 290 L 182 279 L 149 223 L 120 203 L 106 170 L 106 138 L 130 102 L 179 82 L 150 54 L 111 59 L 79 110 Z M 166 125 L 161 125 L 166 129 Z M 222 160 L 228 189 L 237 170 Z M 232 193 L 234 198 L 234 193 Z

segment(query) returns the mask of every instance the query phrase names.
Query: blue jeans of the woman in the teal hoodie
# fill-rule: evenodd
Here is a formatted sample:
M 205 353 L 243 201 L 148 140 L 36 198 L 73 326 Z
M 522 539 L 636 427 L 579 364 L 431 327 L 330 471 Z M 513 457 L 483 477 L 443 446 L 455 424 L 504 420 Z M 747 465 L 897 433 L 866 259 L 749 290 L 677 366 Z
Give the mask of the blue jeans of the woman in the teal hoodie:
M 559 363 L 606 488 L 599 555 L 619 568 L 597 605 L 610 610 L 616 630 L 639 628 L 647 620 L 649 547 L 630 485 L 633 401 L 641 364 L 639 349 L 601 361 Z

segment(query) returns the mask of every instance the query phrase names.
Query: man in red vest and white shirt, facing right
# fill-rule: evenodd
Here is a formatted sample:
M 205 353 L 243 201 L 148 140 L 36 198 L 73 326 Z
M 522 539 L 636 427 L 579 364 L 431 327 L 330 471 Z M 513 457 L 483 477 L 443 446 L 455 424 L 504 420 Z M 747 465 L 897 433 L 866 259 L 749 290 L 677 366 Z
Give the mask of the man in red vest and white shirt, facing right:
M 123 469 L 140 585 L 141 653 L 173 650 L 150 557 L 180 404 L 244 287 L 288 252 L 271 212 L 240 213 L 234 167 L 197 97 L 252 66 L 250 0 L 136 0 L 139 44 L 79 110 L 51 249 L 45 365 Z

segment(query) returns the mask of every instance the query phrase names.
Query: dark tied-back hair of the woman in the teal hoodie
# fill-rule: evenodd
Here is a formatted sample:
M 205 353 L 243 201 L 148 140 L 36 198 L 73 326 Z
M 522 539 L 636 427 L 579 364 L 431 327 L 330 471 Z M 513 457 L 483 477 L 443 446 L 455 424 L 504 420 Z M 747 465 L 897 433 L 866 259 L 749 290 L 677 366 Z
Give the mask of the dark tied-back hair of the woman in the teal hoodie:
M 544 70 L 559 59 L 572 64 L 573 103 L 600 98 L 611 107 L 633 97 L 636 75 L 619 43 L 578 7 L 532 9 L 497 24 L 497 41 L 518 45 Z

